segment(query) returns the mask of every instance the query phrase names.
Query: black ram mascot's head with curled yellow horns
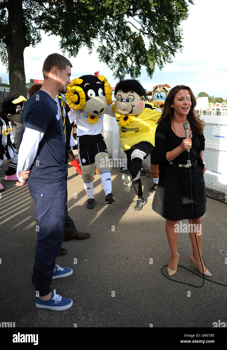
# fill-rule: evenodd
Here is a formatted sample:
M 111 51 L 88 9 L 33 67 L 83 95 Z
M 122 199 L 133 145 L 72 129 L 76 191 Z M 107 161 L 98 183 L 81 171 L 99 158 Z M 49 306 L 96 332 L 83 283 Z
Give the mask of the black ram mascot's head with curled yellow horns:
M 66 99 L 71 109 L 84 110 L 89 115 L 104 113 L 112 101 L 111 86 L 103 75 L 84 75 L 68 85 Z

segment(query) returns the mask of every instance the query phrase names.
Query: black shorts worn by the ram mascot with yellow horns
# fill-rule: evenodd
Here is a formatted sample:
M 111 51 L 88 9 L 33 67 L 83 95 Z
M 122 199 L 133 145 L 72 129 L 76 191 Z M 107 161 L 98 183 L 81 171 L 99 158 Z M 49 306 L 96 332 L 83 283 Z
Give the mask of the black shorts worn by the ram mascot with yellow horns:
M 107 147 L 102 134 L 83 135 L 77 138 L 78 155 L 80 165 L 91 165 L 95 162 L 95 156 L 98 153 L 106 153 Z

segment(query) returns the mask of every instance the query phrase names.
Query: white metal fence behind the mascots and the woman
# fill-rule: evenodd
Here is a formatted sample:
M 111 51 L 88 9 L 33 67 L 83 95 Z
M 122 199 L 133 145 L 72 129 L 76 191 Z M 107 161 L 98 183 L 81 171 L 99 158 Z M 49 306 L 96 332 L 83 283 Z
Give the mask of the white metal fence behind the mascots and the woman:
M 227 117 L 202 115 L 206 126 L 204 129 L 205 152 L 203 161 L 207 171 L 204 180 L 207 187 L 227 193 Z M 109 156 L 124 158 L 120 145 L 119 129 L 113 117 L 104 115 L 104 136 Z M 143 161 L 143 168 L 150 169 L 150 156 Z

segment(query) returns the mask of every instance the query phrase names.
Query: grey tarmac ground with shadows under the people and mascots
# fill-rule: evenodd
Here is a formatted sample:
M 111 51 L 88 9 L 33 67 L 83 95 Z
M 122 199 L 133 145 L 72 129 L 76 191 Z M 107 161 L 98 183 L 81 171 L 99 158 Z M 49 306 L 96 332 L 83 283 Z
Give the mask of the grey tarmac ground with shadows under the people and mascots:
M 78 231 L 89 232 L 91 237 L 63 242 L 67 252 L 56 261 L 62 267 L 73 268 L 73 274 L 54 279 L 52 290 L 70 297 L 73 306 L 60 312 L 36 308 L 31 283 L 37 235 L 34 200 L 27 184 L 18 188 L 15 182 L 3 180 L 7 167 L 4 161 L 0 169 L 5 187 L 0 199 L 0 322 L 15 322 L 15 327 L 208 328 L 218 320 L 227 322 L 226 287 L 205 280 L 202 288 L 196 288 L 162 275 L 161 267 L 168 264 L 171 251 L 165 219 L 151 207 L 149 188 L 153 181 L 141 176 L 147 203 L 136 212 L 134 190 L 123 192 L 119 168 L 112 169 L 113 204 L 105 205 L 100 175 L 95 175 L 96 203 L 89 210 L 81 178 L 70 163 L 68 212 Z M 226 204 L 207 199 L 202 218 L 202 258 L 212 273 L 208 279 L 225 284 L 226 212 Z M 187 233 L 179 233 L 178 251 L 179 264 L 197 273 L 189 260 L 192 249 Z M 167 275 L 167 267 L 163 272 Z M 172 279 L 202 284 L 202 278 L 182 267 Z M 187 296 L 189 292 L 191 296 Z

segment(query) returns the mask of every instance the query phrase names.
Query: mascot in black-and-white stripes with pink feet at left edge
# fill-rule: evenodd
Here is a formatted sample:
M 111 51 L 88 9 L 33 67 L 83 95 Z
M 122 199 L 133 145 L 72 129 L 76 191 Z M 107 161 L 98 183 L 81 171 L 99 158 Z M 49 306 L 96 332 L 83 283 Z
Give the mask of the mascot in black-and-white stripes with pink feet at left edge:
M 14 127 L 20 118 L 24 108 L 24 96 L 18 96 L 12 92 L 5 92 L 0 95 L 0 166 L 6 159 L 9 160 L 8 170 L 5 172 L 5 181 L 18 181 L 16 177 L 16 166 L 18 154 L 14 143 Z M 0 191 L 4 187 L 0 183 Z

